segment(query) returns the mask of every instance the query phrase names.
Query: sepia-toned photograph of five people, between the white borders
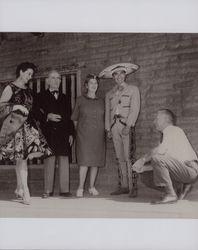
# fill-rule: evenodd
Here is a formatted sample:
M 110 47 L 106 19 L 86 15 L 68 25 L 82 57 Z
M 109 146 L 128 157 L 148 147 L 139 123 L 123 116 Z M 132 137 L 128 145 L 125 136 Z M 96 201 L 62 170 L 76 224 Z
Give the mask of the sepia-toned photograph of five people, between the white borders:
M 1 29 L 0 62 L 1 219 L 198 219 L 198 33 Z

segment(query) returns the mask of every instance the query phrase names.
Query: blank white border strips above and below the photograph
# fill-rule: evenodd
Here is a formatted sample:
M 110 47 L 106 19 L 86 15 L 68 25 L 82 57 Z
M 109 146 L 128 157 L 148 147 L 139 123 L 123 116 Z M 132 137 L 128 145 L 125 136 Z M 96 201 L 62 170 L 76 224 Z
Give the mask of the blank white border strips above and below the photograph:
M 197 7 L 196 0 L 0 0 L 0 32 L 197 33 Z M 191 250 L 197 233 L 195 219 L 3 218 L 0 249 Z

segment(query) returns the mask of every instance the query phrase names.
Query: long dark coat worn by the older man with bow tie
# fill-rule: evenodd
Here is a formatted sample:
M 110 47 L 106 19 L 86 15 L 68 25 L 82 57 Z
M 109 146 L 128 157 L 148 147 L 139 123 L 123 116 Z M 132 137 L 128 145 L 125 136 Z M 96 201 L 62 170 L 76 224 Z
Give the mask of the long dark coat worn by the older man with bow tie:
M 54 155 L 69 155 L 69 136 L 74 133 L 71 116 L 71 103 L 66 95 L 59 93 L 58 99 L 46 90 L 39 93 L 33 104 L 33 113 L 40 122 L 41 130 Z M 54 113 L 61 115 L 60 122 L 47 120 L 47 115 Z

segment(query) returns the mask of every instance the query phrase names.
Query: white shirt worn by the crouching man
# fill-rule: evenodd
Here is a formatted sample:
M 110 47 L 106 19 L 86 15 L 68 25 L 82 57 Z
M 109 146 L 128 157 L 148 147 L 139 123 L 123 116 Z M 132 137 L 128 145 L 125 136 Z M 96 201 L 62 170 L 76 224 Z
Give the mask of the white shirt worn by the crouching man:
M 184 131 L 173 125 L 163 130 L 163 141 L 155 152 L 168 154 L 181 162 L 197 160 L 197 155 Z

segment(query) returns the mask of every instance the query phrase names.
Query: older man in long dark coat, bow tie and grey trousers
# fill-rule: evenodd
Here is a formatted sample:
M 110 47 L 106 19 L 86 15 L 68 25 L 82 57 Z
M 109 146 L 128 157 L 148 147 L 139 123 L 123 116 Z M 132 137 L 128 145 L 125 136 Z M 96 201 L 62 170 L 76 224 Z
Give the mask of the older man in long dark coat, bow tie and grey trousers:
M 55 166 L 59 166 L 60 196 L 70 196 L 69 192 L 69 151 L 73 143 L 73 123 L 70 120 L 71 106 L 66 95 L 59 91 L 61 76 L 52 70 L 47 78 L 48 89 L 36 98 L 35 112 L 41 129 L 53 155 L 44 161 L 43 198 L 53 196 Z

